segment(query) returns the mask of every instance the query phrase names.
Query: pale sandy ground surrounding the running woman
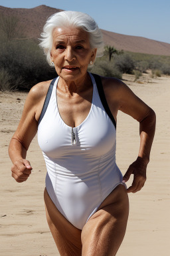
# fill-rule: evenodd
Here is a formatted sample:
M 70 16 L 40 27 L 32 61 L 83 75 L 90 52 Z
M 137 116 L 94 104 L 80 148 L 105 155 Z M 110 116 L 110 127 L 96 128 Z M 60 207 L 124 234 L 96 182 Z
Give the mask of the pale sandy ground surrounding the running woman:
M 147 168 L 145 187 L 129 195 L 130 213 L 126 237 L 118 256 L 168 256 L 170 238 L 169 205 L 169 111 L 170 77 L 142 77 L 133 82 L 124 76 L 134 93 L 157 114 L 157 129 Z M 44 179 L 46 168 L 37 137 L 33 139 L 27 159 L 33 173 L 25 183 L 11 178 L 11 161 L 7 148 L 21 117 L 27 93 L 0 93 L 0 235 L 1 256 L 59 255 L 46 223 L 44 213 Z M 139 129 L 128 115 L 118 115 L 117 163 L 124 174 L 137 157 Z M 106 255 L 107 256 L 107 255 Z

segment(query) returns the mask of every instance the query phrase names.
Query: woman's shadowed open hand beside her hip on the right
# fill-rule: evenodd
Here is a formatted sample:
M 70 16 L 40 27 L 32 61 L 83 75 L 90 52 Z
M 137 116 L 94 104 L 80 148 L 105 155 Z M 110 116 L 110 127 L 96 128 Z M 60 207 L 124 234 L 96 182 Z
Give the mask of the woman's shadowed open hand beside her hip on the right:
M 127 189 L 128 193 L 136 193 L 144 186 L 146 181 L 146 168 L 147 163 L 141 157 L 137 157 L 136 161 L 129 165 L 128 171 L 126 171 L 123 177 L 123 182 L 127 182 L 130 175 L 133 174 L 133 182 Z

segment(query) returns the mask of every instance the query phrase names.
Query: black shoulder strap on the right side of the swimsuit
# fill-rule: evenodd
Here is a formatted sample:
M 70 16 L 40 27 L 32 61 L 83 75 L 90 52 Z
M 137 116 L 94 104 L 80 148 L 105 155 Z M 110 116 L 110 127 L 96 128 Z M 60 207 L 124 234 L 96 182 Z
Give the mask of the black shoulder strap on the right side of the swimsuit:
M 108 114 L 108 116 L 110 117 L 112 123 L 114 124 L 114 126 L 116 128 L 116 121 L 115 121 L 114 116 L 112 115 L 112 113 L 110 111 L 110 108 L 108 106 L 108 102 L 106 101 L 106 97 L 105 97 L 105 94 L 104 94 L 104 89 L 103 89 L 101 77 L 99 75 L 96 75 L 96 74 L 92 74 L 92 75 L 93 75 L 93 77 L 96 81 L 100 101 L 102 102 L 102 105 L 103 105 L 106 113 Z

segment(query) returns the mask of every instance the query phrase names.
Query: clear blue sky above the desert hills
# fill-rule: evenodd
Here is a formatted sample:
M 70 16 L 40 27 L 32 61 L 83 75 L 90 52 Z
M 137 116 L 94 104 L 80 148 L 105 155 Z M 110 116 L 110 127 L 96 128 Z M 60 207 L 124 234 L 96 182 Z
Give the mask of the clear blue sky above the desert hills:
M 10 8 L 48 5 L 82 11 L 91 15 L 101 29 L 170 43 L 170 0 L 0 0 L 0 5 Z

